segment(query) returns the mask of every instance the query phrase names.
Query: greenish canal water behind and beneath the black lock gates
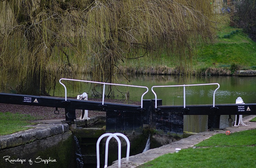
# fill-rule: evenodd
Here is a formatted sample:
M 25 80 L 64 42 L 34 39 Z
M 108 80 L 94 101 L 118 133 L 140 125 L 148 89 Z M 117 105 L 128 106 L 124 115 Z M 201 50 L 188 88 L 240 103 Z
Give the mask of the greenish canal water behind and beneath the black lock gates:
M 146 86 L 149 91 L 144 95 L 143 99 L 155 99 L 152 86 L 170 86 L 170 85 L 189 85 L 201 83 L 219 83 L 220 88 L 215 95 L 215 104 L 232 104 L 236 102 L 237 97 L 241 97 L 244 103 L 256 103 L 256 77 L 238 77 L 238 76 L 218 76 L 218 77 L 182 77 L 182 76 L 166 76 L 166 75 L 139 75 L 130 76 L 130 82 L 126 79 L 118 77 L 113 83 L 125 85 Z M 79 80 L 90 80 L 90 77 L 84 76 Z M 65 81 L 63 81 L 64 83 Z M 92 91 L 90 83 L 67 81 L 67 96 L 74 97 L 83 92 L 87 92 L 89 97 L 94 96 L 97 91 L 100 93 L 102 86 Z M 217 85 L 210 86 L 192 86 L 186 87 L 186 105 L 213 104 L 213 92 Z M 98 90 L 97 90 L 98 89 Z M 112 90 L 106 87 L 105 94 L 111 93 L 111 99 L 126 99 L 129 92 L 129 99 L 133 101 L 141 101 L 142 94 L 146 91 L 144 88 L 116 86 Z M 183 87 L 166 87 L 154 88 L 157 99 L 163 100 L 163 105 L 183 105 Z M 55 95 L 65 96 L 64 88 L 57 85 Z M 105 99 L 108 99 L 105 96 Z M 233 123 L 228 122 L 229 116 L 221 116 L 220 127 L 228 127 Z M 235 121 L 235 116 L 232 116 Z M 202 132 L 207 130 L 208 116 L 184 116 L 184 131 Z

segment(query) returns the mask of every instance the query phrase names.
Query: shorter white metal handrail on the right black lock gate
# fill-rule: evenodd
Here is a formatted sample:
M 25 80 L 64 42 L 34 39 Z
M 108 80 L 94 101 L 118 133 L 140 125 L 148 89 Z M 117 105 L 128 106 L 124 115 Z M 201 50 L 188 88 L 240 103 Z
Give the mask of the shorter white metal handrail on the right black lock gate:
M 215 89 L 214 93 L 213 93 L 213 107 L 215 107 L 215 93 L 216 91 L 220 88 L 220 85 L 219 83 L 204 83 L 204 84 L 194 84 L 194 85 L 170 85 L 170 86 L 153 86 L 151 88 L 152 92 L 154 93 L 155 95 L 155 108 L 157 108 L 157 96 L 156 96 L 156 93 L 154 92 L 153 88 L 162 88 L 162 87 L 181 87 L 183 86 L 183 103 L 184 103 L 184 108 L 186 108 L 186 93 L 185 93 L 185 87 L 186 86 L 204 86 L 204 85 L 218 85 L 218 88 Z

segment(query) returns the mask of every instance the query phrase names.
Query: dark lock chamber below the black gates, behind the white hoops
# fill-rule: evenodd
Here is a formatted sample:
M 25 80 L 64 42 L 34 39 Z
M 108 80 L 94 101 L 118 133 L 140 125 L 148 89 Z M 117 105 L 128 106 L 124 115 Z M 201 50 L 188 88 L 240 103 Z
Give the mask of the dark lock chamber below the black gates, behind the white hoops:
M 79 142 L 83 167 L 96 168 L 96 143 L 99 137 L 106 133 L 106 120 L 105 116 L 97 116 L 88 121 L 90 123 L 85 123 L 87 122 L 85 120 L 77 120 L 77 129 L 73 130 L 73 134 Z M 143 131 L 140 133 L 126 133 L 125 135 L 130 141 L 130 156 L 142 153 L 145 150 L 148 139 L 150 139 L 149 148 L 160 147 L 177 140 L 169 135 L 156 134 L 154 130 L 148 127 L 143 128 Z M 103 138 L 100 142 L 100 167 L 104 167 L 105 142 L 107 138 Z M 126 157 L 127 143 L 123 138 L 119 138 L 121 141 L 121 158 L 124 158 Z M 112 138 L 109 142 L 108 166 L 112 165 L 112 162 L 115 160 L 118 160 L 118 143 Z

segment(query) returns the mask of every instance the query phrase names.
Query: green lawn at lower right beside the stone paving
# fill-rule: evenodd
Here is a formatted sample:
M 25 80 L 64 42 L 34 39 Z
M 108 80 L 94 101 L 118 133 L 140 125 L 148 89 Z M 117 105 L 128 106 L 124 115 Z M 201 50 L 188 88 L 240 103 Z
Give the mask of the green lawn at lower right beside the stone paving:
M 166 154 L 139 168 L 223 168 L 255 167 L 256 130 L 217 134 L 197 144 L 197 148 Z

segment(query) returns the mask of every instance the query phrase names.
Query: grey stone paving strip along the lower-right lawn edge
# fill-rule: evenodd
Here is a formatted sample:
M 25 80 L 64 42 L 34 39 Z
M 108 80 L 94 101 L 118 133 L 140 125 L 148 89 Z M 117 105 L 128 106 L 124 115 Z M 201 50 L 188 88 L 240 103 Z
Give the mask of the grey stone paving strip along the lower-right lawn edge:
M 244 131 L 249 129 L 255 129 L 256 128 L 256 122 L 249 122 L 252 118 L 256 117 L 256 115 L 246 116 L 243 118 L 244 124 L 248 126 L 232 126 L 227 127 L 225 129 L 219 129 L 214 131 L 205 131 L 201 133 L 197 133 L 194 135 L 191 135 L 188 138 L 181 139 L 179 141 L 173 142 L 171 144 L 167 144 L 158 148 L 154 148 L 151 150 L 148 150 L 144 153 L 140 153 L 134 156 L 129 157 L 129 165 L 126 166 L 126 158 L 121 159 L 121 168 L 136 168 L 139 165 L 142 165 L 148 161 L 151 161 L 159 156 L 162 156 L 167 153 L 175 153 L 175 148 L 189 148 L 193 147 L 194 145 L 198 144 L 199 142 L 206 140 L 212 135 L 218 134 L 218 133 L 225 133 L 226 131 L 238 132 L 238 131 Z M 108 166 L 107 168 L 118 168 L 118 160 L 114 161 L 113 165 Z

